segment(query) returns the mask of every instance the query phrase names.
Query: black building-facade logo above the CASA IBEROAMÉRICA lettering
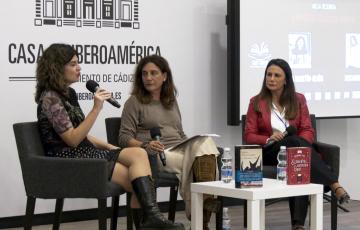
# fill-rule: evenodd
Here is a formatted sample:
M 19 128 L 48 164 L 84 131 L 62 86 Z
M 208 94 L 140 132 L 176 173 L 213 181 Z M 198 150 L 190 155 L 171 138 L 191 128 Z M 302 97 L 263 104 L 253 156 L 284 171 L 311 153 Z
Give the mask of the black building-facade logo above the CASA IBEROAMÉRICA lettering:
M 140 29 L 139 0 L 35 0 L 34 25 Z

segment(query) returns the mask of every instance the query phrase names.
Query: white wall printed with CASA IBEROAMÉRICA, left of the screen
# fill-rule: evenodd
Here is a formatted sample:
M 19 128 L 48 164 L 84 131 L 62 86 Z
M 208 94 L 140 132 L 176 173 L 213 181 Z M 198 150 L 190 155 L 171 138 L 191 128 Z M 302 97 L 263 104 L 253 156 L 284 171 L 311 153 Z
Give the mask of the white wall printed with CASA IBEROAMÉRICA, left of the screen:
M 114 1 L 115 4 L 119 2 L 120 6 L 123 2 L 132 4 L 130 6 L 133 7 L 131 11 L 133 15 L 128 18 L 133 19 L 130 22 L 133 23 L 133 27 L 139 27 L 138 29 L 121 26 L 116 28 L 116 24 L 112 27 L 102 27 L 105 20 L 101 21 L 101 19 L 94 20 L 96 21 L 94 26 L 85 26 L 86 21 L 91 20 L 86 20 L 86 16 L 79 13 L 78 9 L 86 0 L 74 1 L 76 6 L 74 12 L 67 12 L 70 15 L 75 14 L 74 25 L 65 25 L 71 22 L 63 18 L 63 1 L 47 1 L 50 5 L 46 6 L 42 5 L 44 2 L 12 1 L 0 10 L 1 85 L 6 90 L 4 91 L 6 96 L 1 97 L 3 112 L 0 121 L 3 127 L 0 131 L 3 143 L 1 145 L 3 159 L 0 161 L 0 204 L 1 207 L 6 208 L 0 208 L 0 217 L 23 215 L 25 210 L 25 191 L 12 124 L 36 120 L 36 104 L 33 98 L 35 81 L 31 77 L 35 76 L 35 60 L 38 52 L 41 53 L 42 49 L 49 44 L 64 42 L 82 48 L 83 51 L 80 52 L 83 60 L 82 78 L 79 83 L 73 85 L 78 93 L 87 95 L 85 82 L 91 78 L 99 81 L 100 86 L 113 91 L 120 104 L 128 98 L 131 87 L 129 80 L 131 80 L 136 60 L 145 52 L 160 53 L 168 59 L 172 67 L 188 135 L 198 132 L 215 132 L 211 119 L 208 119 L 209 116 L 215 114 L 206 111 L 213 106 L 210 103 L 212 100 L 209 99 L 216 99 L 218 95 L 225 92 L 225 88 L 218 88 L 218 82 L 221 82 L 223 87 L 226 83 L 226 5 L 224 1 Z M 101 2 L 96 0 L 96 6 Z M 135 9 L 137 4 L 138 7 Z M 117 6 L 114 6 L 114 9 L 117 9 Z M 37 15 L 37 10 L 40 11 L 39 15 Z M 94 12 L 97 18 L 97 10 L 95 9 Z M 137 21 L 136 14 L 138 14 Z M 43 20 L 44 15 L 55 16 L 55 25 L 45 25 L 49 21 Z M 121 20 L 113 21 L 122 22 Z M 98 28 L 98 25 L 101 27 Z M 217 50 L 211 50 L 214 44 Z M 115 50 L 114 53 L 111 53 L 112 48 Z M 96 55 L 91 54 L 92 49 L 101 50 L 101 54 L 97 53 L 98 60 L 96 60 Z M 118 54 L 118 49 L 121 49 L 120 54 Z M 222 60 L 221 69 L 215 68 L 214 65 L 219 56 Z M 121 60 L 122 57 L 123 60 Z M 209 60 L 213 62 L 214 68 L 211 72 L 215 71 L 217 82 L 210 80 L 212 76 L 208 70 Z M 101 63 L 106 61 L 110 63 Z M 203 63 L 206 65 L 204 66 Z M 124 78 L 124 74 L 127 77 Z M 105 78 L 104 75 L 106 75 Z M 119 82 L 120 75 L 123 81 Z M 198 95 L 199 90 L 201 94 Z M 210 91 L 215 91 L 216 95 L 211 95 Z M 195 97 L 196 100 L 194 100 Z M 225 100 L 225 96 L 223 99 Z M 80 104 L 87 113 L 92 106 L 92 101 L 80 100 Z M 204 112 L 195 113 L 196 108 L 203 108 L 200 111 Z M 225 111 L 224 107 L 218 112 L 226 118 Z M 92 133 L 106 139 L 104 118 L 120 115 L 121 109 L 108 104 L 104 105 Z M 221 126 L 225 127 L 225 125 L 226 121 L 223 120 Z M 167 189 L 161 191 L 159 200 L 167 200 L 167 194 Z M 123 200 L 122 203 L 124 203 Z M 54 208 L 53 204 L 52 201 L 39 201 L 36 212 L 51 212 Z M 67 200 L 64 209 L 88 207 L 96 207 L 95 201 Z

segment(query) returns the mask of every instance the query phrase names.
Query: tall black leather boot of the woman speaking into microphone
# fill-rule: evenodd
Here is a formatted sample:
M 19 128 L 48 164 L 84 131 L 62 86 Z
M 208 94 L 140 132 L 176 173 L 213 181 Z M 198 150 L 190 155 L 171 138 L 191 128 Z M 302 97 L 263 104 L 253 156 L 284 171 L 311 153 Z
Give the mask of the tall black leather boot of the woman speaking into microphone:
M 184 230 L 181 223 L 173 223 L 161 214 L 156 203 L 155 186 L 150 176 L 143 176 L 131 182 L 134 193 L 143 209 L 143 219 L 140 223 L 142 230 L 176 229 Z

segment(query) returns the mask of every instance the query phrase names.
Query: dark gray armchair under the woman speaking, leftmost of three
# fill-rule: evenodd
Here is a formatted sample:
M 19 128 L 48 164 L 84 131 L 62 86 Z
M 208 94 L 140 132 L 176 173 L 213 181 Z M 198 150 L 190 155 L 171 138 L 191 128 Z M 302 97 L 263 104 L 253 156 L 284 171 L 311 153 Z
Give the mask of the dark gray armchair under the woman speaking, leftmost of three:
M 108 180 L 103 159 L 65 159 L 44 155 L 37 122 L 13 125 L 27 196 L 24 229 L 30 230 L 36 198 L 56 199 L 53 229 L 58 230 L 64 198 L 98 199 L 99 229 L 106 230 L 108 197 L 112 197 L 111 229 L 116 230 L 119 195 L 125 191 Z

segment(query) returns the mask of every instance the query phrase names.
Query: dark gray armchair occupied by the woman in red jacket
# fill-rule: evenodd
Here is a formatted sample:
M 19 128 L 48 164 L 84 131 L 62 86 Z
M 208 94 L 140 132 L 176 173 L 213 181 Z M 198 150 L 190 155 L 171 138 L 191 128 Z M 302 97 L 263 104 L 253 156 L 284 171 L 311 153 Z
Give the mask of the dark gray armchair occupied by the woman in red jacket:
M 339 166 L 340 166 L 340 147 L 337 145 L 326 144 L 317 141 L 316 135 L 316 117 L 314 114 L 310 114 L 311 124 L 313 129 L 315 130 L 315 142 L 313 143 L 313 147 L 317 152 L 321 154 L 322 159 L 329 166 L 331 171 L 333 171 L 337 176 L 339 175 Z M 246 123 L 246 115 L 241 116 L 241 124 L 242 124 L 242 142 L 245 142 L 245 123 Z M 266 178 L 276 178 L 276 166 L 263 166 L 263 175 Z M 324 192 L 327 193 L 330 191 L 330 188 L 325 186 Z M 331 195 L 328 196 L 324 194 L 324 199 L 331 202 L 331 230 L 337 229 L 337 199 L 335 194 L 331 191 Z M 267 203 L 269 204 L 269 203 Z M 244 206 L 246 207 L 246 205 Z M 345 209 L 344 209 L 345 210 Z M 347 210 L 345 210 L 347 211 Z M 244 212 L 246 214 L 246 212 Z M 246 215 L 244 215 L 244 224 L 246 225 Z

